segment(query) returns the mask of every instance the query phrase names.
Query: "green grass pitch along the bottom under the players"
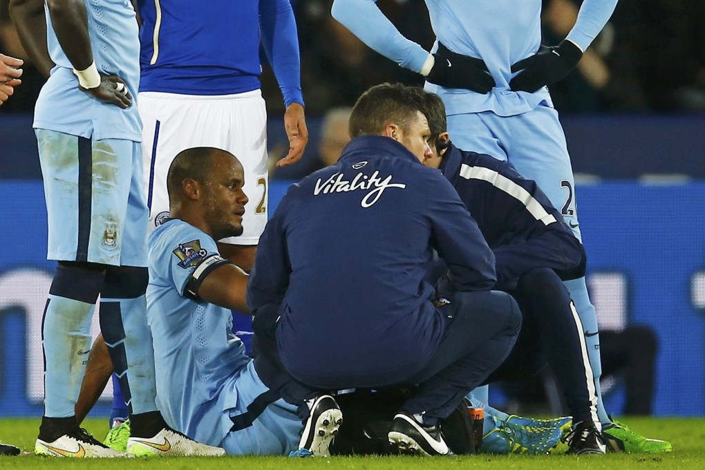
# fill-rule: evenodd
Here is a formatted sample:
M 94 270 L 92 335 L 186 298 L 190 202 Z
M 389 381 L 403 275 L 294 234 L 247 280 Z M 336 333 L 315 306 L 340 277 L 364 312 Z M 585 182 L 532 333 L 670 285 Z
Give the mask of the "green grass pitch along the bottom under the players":
M 621 419 L 633 430 L 652 438 L 668 440 L 670 454 L 570 455 L 487 455 L 466 457 L 330 457 L 289 459 L 287 457 L 184 457 L 177 459 L 54 459 L 23 455 L 0 457 L 0 468 L 12 469 L 705 469 L 705 419 L 636 418 Z M 34 447 L 39 419 L 0 419 L 0 441 L 18 445 L 24 451 Z M 88 419 L 88 431 L 97 438 L 106 433 L 106 419 Z

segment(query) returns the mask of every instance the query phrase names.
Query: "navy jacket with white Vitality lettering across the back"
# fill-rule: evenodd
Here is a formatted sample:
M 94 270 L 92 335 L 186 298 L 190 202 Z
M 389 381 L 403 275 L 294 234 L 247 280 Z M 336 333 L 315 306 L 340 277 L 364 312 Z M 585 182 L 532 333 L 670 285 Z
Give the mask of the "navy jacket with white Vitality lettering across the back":
M 494 255 L 448 180 L 389 137 L 358 137 L 289 188 L 259 239 L 247 302 L 255 321 L 277 309 L 279 354 L 299 381 L 397 384 L 443 334 L 424 280 L 433 249 L 453 289 L 496 282 Z

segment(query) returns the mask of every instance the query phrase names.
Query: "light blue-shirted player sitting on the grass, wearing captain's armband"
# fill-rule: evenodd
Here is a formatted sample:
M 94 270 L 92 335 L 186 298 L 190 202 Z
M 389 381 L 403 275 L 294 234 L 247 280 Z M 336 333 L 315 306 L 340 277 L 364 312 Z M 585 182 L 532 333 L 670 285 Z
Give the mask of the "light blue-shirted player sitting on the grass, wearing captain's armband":
M 250 311 L 248 276 L 215 242 L 243 233 L 244 183 L 240 161 L 221 149 L 184 150 L 169 168 L 171 218 L 149 236 L 157 405 L 170 426 L 228 454 L 288 454 L 300 418 L 259 380 L 232 333 L 231 309 Z

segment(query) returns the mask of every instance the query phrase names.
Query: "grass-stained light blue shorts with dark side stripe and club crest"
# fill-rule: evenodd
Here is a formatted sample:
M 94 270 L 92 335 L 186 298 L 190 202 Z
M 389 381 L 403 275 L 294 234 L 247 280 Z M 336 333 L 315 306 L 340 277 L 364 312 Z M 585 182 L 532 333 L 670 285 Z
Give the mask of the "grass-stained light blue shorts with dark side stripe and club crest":
M 139 142 L 36 129 L 47 200 L 47 259 L 147 266 Z

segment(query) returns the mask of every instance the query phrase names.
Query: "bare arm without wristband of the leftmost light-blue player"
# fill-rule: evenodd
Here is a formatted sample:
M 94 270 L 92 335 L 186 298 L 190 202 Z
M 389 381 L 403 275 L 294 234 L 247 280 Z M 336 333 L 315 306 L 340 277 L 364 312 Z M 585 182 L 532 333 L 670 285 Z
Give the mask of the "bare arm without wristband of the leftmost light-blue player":
M 44 77 L 49 77 L 49 71 L 54 67 L 54 62 L 49 58 L 47 50 L 47 19 L 44 17 L 44 1 L 11 0 L 9 11 L 30 61 Z

